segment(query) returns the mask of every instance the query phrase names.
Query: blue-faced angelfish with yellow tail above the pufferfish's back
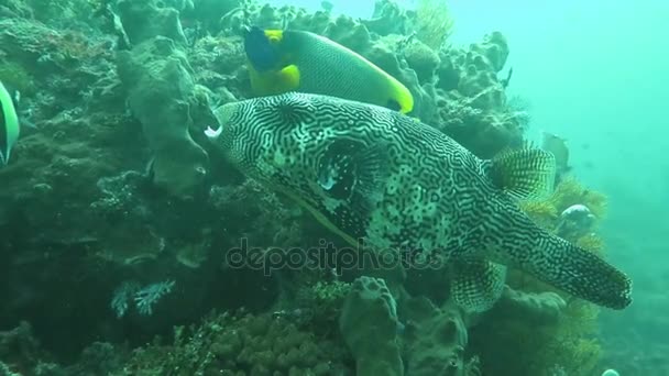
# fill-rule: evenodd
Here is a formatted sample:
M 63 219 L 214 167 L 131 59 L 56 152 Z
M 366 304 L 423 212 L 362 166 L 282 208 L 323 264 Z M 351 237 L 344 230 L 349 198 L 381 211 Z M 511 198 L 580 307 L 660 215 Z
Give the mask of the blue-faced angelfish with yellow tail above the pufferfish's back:
M 412 92 L 355 52 L 314 33 L 251 27 L 244 35 L 251 87 L 256 96 L 288 91 L 326 95 L 402 113 Z

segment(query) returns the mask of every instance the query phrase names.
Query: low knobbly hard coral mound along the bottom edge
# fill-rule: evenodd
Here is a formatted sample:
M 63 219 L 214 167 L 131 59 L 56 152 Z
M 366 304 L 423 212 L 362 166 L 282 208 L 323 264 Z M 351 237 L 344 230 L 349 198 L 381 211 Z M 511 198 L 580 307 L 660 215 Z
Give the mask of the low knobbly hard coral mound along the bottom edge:
M 300 331 L 271 314 L 223 313 L 198 328 L 177 328 L 172 345 L 135 352 L 127 369 L 135 375 L 337 375 L 347 354 L 337 344 Z

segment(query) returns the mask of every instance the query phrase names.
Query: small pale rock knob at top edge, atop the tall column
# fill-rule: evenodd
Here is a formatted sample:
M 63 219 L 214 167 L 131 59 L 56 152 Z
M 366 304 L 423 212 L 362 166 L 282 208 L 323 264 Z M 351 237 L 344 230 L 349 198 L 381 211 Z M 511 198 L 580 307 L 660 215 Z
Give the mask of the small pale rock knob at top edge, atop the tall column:
M 132 45 L 158 35 L 186 44 L 176 9 L 158 8 L 155 0 L 122 0 L 118 8 L 123 30 Z

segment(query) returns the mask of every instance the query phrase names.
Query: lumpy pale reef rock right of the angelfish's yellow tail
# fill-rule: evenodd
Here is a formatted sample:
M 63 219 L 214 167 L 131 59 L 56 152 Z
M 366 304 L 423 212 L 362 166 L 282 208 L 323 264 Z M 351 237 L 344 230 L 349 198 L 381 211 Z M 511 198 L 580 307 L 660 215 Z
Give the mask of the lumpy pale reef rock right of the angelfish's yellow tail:
M 527 115 L 509 108 L 497 78 L 507 56 L 508 44 L 498 32 L 468 49 L 450 46 L 439 53 L 431 95 L 438 113 L 427 122 L 482 158 L 523 143 Z

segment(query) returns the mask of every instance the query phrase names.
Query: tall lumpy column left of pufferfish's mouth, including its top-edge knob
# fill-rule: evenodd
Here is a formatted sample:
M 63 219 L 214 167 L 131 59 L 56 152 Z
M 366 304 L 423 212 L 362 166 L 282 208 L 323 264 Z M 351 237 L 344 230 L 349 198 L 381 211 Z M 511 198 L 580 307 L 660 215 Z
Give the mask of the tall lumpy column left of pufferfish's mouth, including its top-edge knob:
M 119 76 L 153 152 L 153 179 L 174 196 L 191 197 L 207 174 L 208 158 L 188 133 L 196 119 L 197 89 L 193 68 L 179 48 L 186 38 L 178 12 L 157 8 L 151 0 L 121 1 L 119 12 L 134 44 L 132 51 L 119 53 Z M 144 22 L 147 19 L 155 22 Z

